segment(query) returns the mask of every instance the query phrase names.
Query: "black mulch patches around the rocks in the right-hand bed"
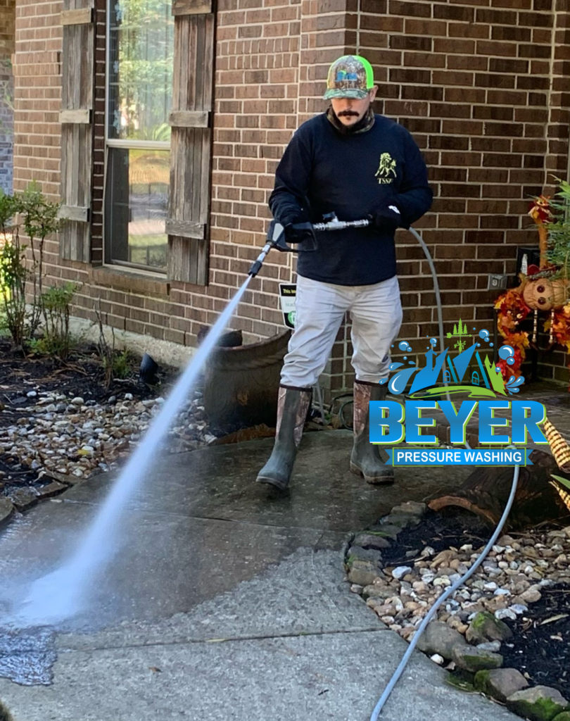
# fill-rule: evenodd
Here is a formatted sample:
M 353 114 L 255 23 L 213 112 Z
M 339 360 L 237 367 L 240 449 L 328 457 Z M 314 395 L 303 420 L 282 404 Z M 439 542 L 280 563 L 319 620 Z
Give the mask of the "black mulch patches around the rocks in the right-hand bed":
M 473 544 L 484 546 L 494 528 L 468 511 L 450 509 L 446 513 L 428 510 L 415 528 L 404 528 L 389 549 L 383 549 L 387 565 L 413 560 L 426 546 L 438 553 L 447 548 Z M 517 536 L 519 534 L 512 534 Z M 407 555 L 406 555 L 407 554 Z M 513 637 L 501 646 L 504 668 L 517 668 L 529 684 L 552 686 L 570 698 L 570 587 L 545 586 L 540 601 L 530 603 L 528 611 L 516 621 L 505 620 Z

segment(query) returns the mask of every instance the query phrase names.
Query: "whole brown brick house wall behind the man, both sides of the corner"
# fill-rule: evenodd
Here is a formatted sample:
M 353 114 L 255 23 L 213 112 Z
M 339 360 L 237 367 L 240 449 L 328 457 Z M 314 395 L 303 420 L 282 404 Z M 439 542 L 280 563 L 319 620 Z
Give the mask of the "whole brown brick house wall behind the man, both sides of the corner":
M 84 282 L 76 315 L 93 318 L 100 300 L 104 319 L 117 328 L 193 345 L 262 247 L 275 166 L 294 129 L 324 110 L 326 68 L 357 51 L 375 67 L 376 109 L 409 128 L 430 167 L 436 200 L 417 227 L 435 259 L 445 320 L 491 329 L 496 293 L 486 290 L 487 275 L 514 274 L 517 247 L 537 243 L 528 199 L 551 184 L 551 174 L 567 174 L 565 7 L 562 0 L 218 0 L 210 283 L 202 288 L 101 265 L 104 2 L 97 0 L 93 265 L 63 263 L 50 244 L 51 278 Z M 59 9 L 19 2 L 14 73 L 15 184 L 35 177 L 53 197 Z M 419 353 L 437 332 L 432 279 L 404 231 L 398 257 L 401 337 Z M 293 257 L 272 252 L 233 321 L 246 340 L 282 329 L 278 284 L 293 278 Z M 334 390 L 351 381 L 348 331 L 339 333 L 328 369 Z M 564 362 L 553 353 L 540 371 L 567 379 Z

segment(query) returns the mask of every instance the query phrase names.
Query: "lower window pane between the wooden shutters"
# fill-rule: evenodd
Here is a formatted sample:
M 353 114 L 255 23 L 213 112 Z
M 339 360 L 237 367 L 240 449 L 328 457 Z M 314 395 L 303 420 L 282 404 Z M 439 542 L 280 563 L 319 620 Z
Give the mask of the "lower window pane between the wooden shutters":
M 166 271 L 169 178 L 170 151 L 109 149 L 107 262 Z

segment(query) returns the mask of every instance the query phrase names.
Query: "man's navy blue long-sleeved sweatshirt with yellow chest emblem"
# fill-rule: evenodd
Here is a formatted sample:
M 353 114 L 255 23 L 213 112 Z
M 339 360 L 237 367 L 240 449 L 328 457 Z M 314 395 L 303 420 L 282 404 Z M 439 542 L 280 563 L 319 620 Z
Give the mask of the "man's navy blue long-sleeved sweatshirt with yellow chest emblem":
M 359 220 L 396 205 L 401 226 L 417 221 L 432 204 L 427 169 L 410 133 L 383 115 L 367 131 L 340 133 L 317 115 L 300 125 L 277 166 L 270 196 L 282 224 L 308 211 L 311 222 L 334 211 L 341 221 Z M 297 272 L 340 286 L 367 286 L 396 275 L 394 231 L 349 228 L 316 234 L 316 251 L 299 252 Z

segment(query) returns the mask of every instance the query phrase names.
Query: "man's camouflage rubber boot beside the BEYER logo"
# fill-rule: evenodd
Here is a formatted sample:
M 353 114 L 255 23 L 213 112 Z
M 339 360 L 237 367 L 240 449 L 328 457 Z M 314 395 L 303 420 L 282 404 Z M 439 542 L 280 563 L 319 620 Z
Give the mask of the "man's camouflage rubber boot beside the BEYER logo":
M 383 464 L 380 459 L 380 449 L 370 443 L 370 414 L 368 403 L 370 401 L 383 401 L 386 398 L 387 385 L 378 383 L 365 383 L 355 381 L 354 389 L 354 441 L 350 454 L 350 470 L 352 473 L 364 476 L 367 483 L 383 485 L 394 482 L 394 472 L 391 466 Z

